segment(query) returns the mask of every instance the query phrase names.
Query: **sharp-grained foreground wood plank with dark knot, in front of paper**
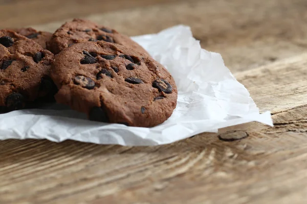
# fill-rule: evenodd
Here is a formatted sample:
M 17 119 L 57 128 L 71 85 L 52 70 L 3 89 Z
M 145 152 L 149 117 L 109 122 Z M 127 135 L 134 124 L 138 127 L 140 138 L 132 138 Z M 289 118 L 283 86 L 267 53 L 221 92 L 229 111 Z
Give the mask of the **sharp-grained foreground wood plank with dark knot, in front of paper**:
M 0 202 L 304 203 L 307 97 L 298 102 L 299 93 L 291 90 L 304 88 L 306 63 L 307 54 L 302 54 L 237 74 L 260 108 L 275 112 L 275 127 L 248 123 L 219 133 L 231 137 L 232 131 L 246 132 L 243 140 L 223 142 L 218 134 L 201 134 L 170 145 L 134 148 L 0 142 Z M 273 103 L 267 105 L 262 93 L 271 95 Z M 292 108 L 275 107 L 275 98 L 278 105 Z

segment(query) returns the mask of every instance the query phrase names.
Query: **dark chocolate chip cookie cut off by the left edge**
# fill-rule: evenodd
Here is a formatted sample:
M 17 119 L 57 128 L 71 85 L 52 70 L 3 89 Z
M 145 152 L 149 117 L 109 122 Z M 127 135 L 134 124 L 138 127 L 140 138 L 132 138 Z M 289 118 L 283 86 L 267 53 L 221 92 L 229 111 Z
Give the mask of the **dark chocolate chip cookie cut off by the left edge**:
M 0 30 L 0 111 L 24 108 L 52 90 L 49 77 L 54 56 L 39 44 L 9 30 Z

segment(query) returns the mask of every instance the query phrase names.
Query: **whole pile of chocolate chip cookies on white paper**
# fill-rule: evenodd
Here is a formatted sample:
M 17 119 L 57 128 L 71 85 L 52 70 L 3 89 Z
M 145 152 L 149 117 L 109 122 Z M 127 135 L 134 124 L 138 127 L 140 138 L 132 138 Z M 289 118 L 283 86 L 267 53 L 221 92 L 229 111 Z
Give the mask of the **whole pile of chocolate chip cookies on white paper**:
M 177 88 L 143 47 L 89 20 L 0 30 L 0 111 L 54 99 L 90 120 L 151 127 L 170 117 Z

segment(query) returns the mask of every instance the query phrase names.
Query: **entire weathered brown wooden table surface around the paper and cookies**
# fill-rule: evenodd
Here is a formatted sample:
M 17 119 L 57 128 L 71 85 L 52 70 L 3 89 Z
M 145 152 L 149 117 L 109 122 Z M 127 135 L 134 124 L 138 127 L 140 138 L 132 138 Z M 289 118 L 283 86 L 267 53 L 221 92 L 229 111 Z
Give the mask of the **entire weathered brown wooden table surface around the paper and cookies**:
M 187 24 L 275 124 L 155 147 L 2 141 L 0 203 L 306 203 L 306 10 L 305 0 L 0 0 L 1 28 L 86 17 L 140 35 Z

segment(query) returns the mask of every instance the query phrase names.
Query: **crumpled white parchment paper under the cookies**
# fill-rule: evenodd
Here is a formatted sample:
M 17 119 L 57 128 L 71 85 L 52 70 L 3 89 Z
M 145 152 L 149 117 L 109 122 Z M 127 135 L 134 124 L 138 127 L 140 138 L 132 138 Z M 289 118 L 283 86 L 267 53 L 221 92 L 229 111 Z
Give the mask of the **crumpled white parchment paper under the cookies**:
M 269 112 L 259 114 L 248 90 L 235 80 L 220 54 L 202 49 L 189 27 L 178 25 L 158 34 L 133 37 L 172 74 L 178 105 L 156 127 L 129 127 L 86 120 L 62 105 L 0 114 L 0 140 L 67 139 L 129 146 L 172 143 L 226 126 L 258 121 L 273 125 Z

